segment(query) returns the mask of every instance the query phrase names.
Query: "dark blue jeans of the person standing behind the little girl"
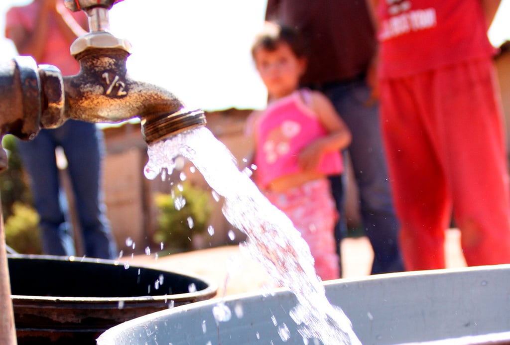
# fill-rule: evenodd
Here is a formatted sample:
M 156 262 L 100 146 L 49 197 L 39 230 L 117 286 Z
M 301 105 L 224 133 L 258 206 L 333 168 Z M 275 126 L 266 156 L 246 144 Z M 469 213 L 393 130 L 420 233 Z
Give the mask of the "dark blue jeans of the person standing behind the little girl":
M 364 76 L 349 82 L 319 88 L 333 102 L 335 109 L 352 132 L 348 148 L 354 177 L 359 189 L 360 211 L 365 233 L 374 251 L 372 274 L 403 271 L 398 244 L 398 221 L 382 148 L 379 107 L 367 104 L 370 88 Z M 341 220 L 336 229 L 337 247 L 346 234 L 343 176 L 331 176 L 331 188 L 340 210 Z M 339 249 L 340 251 L 340 249 Z

